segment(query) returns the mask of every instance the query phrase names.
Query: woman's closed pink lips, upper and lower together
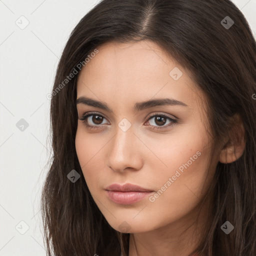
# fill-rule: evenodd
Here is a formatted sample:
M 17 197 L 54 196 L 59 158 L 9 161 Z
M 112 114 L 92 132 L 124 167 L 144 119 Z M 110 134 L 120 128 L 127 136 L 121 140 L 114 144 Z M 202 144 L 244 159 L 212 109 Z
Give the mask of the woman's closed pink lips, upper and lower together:
M 105 190 L 108 198 L 118 204 L 135 203 L 154 192 L 153 190 L 130 183 L 123 185 L 111 184 Z

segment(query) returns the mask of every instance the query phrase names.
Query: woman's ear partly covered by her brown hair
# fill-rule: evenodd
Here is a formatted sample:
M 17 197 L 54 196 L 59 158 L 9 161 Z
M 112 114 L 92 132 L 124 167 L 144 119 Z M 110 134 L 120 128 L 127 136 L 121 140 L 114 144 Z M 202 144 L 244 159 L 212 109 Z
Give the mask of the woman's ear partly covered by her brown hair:
M 221 149 L 219 161 L 222 163 L 230 163 L 237 160 L 245 148 L 244 126 L 239 114 L 233 116 L 233 125 L 229 132 L 227 142 Z

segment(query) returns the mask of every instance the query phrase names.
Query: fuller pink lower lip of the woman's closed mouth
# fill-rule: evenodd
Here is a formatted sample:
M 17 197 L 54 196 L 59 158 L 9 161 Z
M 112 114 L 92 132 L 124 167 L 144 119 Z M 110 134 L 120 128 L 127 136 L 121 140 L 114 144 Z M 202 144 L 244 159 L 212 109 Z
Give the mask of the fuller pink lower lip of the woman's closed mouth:
M 108 191 L 106 190 L 108 197 L 115 203 L 119 204 L 131 204 L 142 200 L 152 192 L 141 192 L 141 191 Z

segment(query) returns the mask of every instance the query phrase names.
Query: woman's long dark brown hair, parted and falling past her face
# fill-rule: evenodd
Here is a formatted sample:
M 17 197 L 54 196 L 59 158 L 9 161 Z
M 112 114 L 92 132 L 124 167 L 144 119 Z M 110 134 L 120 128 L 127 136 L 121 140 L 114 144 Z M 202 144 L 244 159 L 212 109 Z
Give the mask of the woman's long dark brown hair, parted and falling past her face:
M 207 97 L 214 144 L 229 134 L 230 118 L 241 116 L 244 152 L 232 163 L 217 163 L 209 188 L 214 198 L 210 227 L 195 252 L 255 256 L 256 44 L 245 17 L 229 0 L 102 0 L 73 29 L 51 93 L 53 157 L 41 195 L 47 255 L 128 255 L 129 234 L 107 223 L 84 178 L 71 182 L 67 174 L 74 169 L 83 176 L 74 141 L 76 81 L 85 58 L 108 41 L 143 39 L 191 72 Z M 234 226 L 228 235 L 220 229 L 226 220 Z

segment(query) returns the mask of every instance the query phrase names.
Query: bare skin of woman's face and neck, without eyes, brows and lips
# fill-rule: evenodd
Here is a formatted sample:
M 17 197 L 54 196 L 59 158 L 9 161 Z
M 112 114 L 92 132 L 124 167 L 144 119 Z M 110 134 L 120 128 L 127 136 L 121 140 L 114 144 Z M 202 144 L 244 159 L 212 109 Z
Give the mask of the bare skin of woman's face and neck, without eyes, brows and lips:
M 169 75 L 174 67 L 183 73 L 177 80 Z M 93 122 L 96 119 L 88 117 L 88 124 L 101 125 L 95 129 L 87 128 L 78 119 L 75 146 L 98 208 L 114 229 L 121 231 L 121 225 L 130 233 L 129 256 L 188 255 L 207 224 L 210 197 L 200 213 L 198 209 L 217 162 L 235 160 L 244 144 L 237 145 L 235 157 L 230 148 L 217 148 L 208 166 L 212 141 L 206 132 L 207 115 L 203 111 L 206 98 L 188 72 L 151 41 L 108 42 L 98 47 L 98 53 L 79 73 L 77 98 L 81 96 L 103 101 L 112 109 L 77 104 L 78 118 L 90 111 L 104 118 Z M 136 102 L 166 97 L 187 106 L 133 109 Z M 170 121 L 166 118 L 166 128 L 157 130 L 153 127 L 161 125 L 154 117 L 147 121 L 150 114 L 166 114 L 178 122 L 167 126 Z M 131 124 L 126 131 L 118 126 L 123 118 Z M 183 173 L 179 171 L 180 175 L 172 179 L 171 185 L 165 185 L 165 191 L 154 201 L 147 196 L 124 205 L 106 195 L 104 188 L 112 183 L 136 184 L 155 191 L 154 195 L 198 151 L 197 159 Z

